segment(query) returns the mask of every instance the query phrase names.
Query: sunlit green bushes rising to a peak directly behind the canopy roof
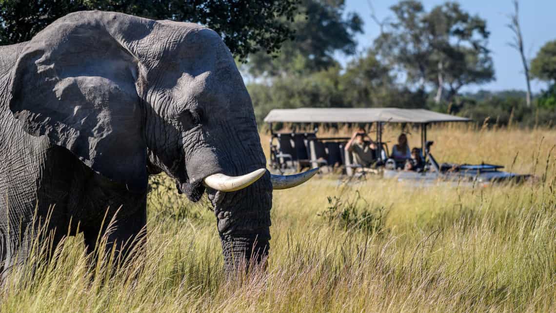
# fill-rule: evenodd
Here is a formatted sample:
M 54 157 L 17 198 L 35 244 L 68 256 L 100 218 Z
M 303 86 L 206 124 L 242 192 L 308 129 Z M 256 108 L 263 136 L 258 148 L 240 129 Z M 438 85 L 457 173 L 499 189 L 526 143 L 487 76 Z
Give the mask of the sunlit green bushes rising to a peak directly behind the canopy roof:
M 389 68 L 373 51 L 349 63 L 305 76 L 275 77 L 271 83 L 251 83 L 257 122 L 273 108 L 299 107 L 424 107 L 426 94 L 398 86 Z

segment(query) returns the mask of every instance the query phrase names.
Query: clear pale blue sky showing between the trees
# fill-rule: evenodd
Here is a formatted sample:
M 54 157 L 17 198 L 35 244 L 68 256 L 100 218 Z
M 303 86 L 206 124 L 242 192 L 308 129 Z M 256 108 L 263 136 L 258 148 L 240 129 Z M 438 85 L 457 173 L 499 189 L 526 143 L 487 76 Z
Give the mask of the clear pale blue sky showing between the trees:
M 379 19 L 393 16 L 389 7 L 398 1 L 395 0 L 370 0 L 373 3 L 375 14 Z M 445 1 L 423 0 L 428 11 Z M 461 7 L 471 14 L 479 14 L 486 19 L 490 31 L 489 48 L 492 51 L 496 80 L 481 86 L 466 87 L 464 91 L 486 90 L 525 90 L 525 77 L 519 53 L 507 45 L 512 39 L 512 31 L 505 25 L 508 23 L 507 15 L 513 12 L 512 0 L 461 0 Z M 379 30 L 370 18 L 368 0 L 346 0 L 346 11 L 357 12 L 365 22 L 364 34 L 356 37 L 359 51 L 365 50 L 378 36 Z M 522 24 L 525 53 L 532 59 L 540 47 L 547 41 L 556 39 L 556 0 L 521 0 L 519 3 L 519 19 Z M 339 56 L 342 63 L 349 61 L 349 57 Z M 532 81 L 533 92 L 546 88 L 545 83 Z

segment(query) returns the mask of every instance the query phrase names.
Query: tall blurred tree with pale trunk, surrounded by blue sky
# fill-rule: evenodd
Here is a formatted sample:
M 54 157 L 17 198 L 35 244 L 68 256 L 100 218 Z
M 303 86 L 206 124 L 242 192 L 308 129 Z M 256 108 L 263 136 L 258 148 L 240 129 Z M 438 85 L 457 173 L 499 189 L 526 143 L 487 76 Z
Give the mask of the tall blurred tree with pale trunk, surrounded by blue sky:
M 395 18 L 374 42 L 379 57 L 419 89 L 435 87 L 436 102 L 445 93 L 450 101 L 461 87 L 494 79 L 484 19 L 471 16 L 454 2 L 430 12 L 414 0 L 401 1 L 390 9 Z

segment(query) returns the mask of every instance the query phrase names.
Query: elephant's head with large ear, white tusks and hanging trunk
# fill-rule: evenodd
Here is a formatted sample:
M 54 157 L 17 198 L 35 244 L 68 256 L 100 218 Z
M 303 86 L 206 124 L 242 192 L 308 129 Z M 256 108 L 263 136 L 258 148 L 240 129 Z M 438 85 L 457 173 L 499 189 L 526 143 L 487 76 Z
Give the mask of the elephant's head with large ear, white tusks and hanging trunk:
M 77 12 L 27 43 L 12 72 L 13 115 L 91 170 L 146 194 L 165 171 L 215 209 L 226 269 L 267 255 L 272 180 L 251 99 L 217 33 L 192 23 Z M 281 183 L 281 185 L 279 184 Z M 125 209 L 125 208 L 124 208 Z

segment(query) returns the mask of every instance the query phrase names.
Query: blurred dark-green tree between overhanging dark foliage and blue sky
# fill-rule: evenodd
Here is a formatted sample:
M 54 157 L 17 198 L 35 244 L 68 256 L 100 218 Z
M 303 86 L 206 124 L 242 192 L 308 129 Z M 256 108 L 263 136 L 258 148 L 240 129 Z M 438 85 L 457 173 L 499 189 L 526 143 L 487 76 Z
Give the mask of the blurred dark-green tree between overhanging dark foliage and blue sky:
M 302 0 L 299 13 L 290 24 L 295 37 L 279 53 L 255 53 L 249 58 L 254 76 L 309 74 L 337 65 L 334 53 L 355 53 L 355 33 L 363 22 L 356 13 L 345 14 L 344 0 Z

